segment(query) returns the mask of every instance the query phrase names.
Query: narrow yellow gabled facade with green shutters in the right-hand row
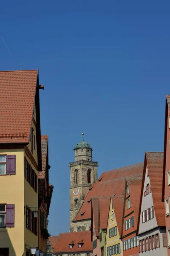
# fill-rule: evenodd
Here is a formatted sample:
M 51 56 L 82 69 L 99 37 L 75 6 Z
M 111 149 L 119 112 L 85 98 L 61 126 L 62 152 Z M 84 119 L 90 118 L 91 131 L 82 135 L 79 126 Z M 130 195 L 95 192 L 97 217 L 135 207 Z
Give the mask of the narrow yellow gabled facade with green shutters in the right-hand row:
M 111 256 L 111 255 L 123 255 L 123 247 L 122 247 L 122 240 L 120 239 L 121 232 L 119 223 L 116 221 L 116 216 L 117 218 L 121 218 L 121 210 L 119 209 L 118 214 L 115 212 L 115 209 L 117 205 L 115 204 L 115 201 L 113 198 L 111 198 L 111 203 L 110 203 L 110 209 L 109 209 L 109 216 L 108 216 L 108 226 L 107 226 L 107 233 L 106 233 L 106 255 Z M 121 220 L 122 221 L 122 220 Z

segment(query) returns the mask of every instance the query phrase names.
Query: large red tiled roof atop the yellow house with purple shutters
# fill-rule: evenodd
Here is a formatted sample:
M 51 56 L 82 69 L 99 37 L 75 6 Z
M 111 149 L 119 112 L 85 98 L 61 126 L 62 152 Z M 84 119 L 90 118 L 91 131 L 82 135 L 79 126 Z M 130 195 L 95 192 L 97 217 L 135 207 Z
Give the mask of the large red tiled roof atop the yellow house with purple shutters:
M 0 71 L 0 143 L 29 142 L 37 77 L 38 70 Z

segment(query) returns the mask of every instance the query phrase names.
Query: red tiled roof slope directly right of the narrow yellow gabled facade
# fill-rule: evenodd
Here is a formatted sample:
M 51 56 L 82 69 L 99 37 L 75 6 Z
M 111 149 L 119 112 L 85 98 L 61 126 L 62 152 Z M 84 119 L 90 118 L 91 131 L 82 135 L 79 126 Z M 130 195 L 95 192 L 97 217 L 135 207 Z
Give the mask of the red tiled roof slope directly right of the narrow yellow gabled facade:
M 112 196 L 111 199 L 112 199 L 112 203 L 113 203 L 113 209 L 114 209 L 114 213 L 115 213 L 117 227 L 119 230 L 119 235 L 121 236 L 124 196 Z

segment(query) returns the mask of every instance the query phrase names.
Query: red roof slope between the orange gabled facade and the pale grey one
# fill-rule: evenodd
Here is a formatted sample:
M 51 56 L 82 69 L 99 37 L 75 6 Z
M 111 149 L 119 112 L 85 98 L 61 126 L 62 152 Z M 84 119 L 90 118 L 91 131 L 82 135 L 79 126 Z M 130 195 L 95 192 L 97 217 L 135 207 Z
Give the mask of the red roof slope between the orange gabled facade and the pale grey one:
M 138 178 L 131 177 L 131 178 L 126 178 L 126 180 L 127 180 L 127 185 L 130 192 L 130 201 L 134 209 L 136 221 L 138 221 L 142 177 L 138 177 Z

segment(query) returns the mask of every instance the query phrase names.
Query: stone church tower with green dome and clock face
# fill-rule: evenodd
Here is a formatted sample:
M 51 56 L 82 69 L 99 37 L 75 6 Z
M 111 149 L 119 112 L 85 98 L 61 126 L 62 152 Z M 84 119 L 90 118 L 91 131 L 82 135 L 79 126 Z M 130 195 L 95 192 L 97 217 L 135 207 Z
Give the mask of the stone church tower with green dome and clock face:
M 70 167 L 70 229 L 82 202 L 88 193 L 89 187 L 97 180 L 98 162 L 92 160 L 91 145 L 84 141 L 74 148 L 74 162 Z

